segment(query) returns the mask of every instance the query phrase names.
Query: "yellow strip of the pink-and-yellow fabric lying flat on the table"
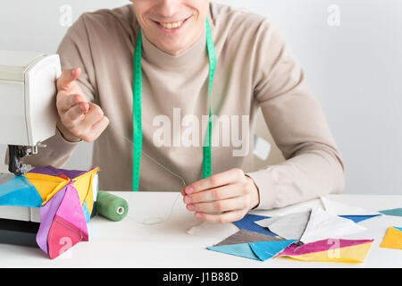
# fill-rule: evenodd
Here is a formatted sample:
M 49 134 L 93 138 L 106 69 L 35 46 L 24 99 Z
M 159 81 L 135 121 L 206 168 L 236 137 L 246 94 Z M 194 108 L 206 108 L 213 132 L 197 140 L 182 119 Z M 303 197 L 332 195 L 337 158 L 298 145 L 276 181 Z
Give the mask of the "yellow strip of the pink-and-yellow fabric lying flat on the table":
M 373 242 L 364 243 L 347 248 L 337 248 L 313 252 L 301 256 L 286 256 L 301 261 L 316 262 L 364 262 Z M 283 256 L 285 257 L 285 256 Z

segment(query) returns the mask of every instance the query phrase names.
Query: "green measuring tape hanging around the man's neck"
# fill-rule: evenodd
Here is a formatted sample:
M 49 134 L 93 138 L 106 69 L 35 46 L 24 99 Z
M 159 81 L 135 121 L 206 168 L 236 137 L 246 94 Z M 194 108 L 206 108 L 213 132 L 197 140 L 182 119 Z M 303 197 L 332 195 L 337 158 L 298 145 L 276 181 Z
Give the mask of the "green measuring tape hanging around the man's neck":
M 211 139 L 212 139 L 212 87 L 214 83 L 214 74 L 216 69 L 216 53 L 214 39 L 212 38 L 211 27 L 206 20 L 206 48 L 209 56 L 209 121 L 205 134 L 203 147 L 203 179 L 212 174 L 212 156 L 211 156 Z M 137 45 L 134 52 L 134 87 L 133 87 L 133 166 L 132 166 L 132 189 L 138 191 L 139 169 L 142 154 L 142 31 L 139 29 Z

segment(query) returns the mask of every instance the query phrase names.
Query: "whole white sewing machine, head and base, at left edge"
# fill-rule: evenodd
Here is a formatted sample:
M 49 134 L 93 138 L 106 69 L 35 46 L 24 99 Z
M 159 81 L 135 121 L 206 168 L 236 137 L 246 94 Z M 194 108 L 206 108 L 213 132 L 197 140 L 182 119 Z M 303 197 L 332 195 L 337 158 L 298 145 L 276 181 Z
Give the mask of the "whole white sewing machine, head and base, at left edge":
M 25 156 L 38 153 L 55 134 L 59 55 L 0 50 L 0 145 L 8 146 L 8 171 L 29 172 Z M 12 175 L 11 173 L 2 175 Z M 38 209 L 0 206 L 0 243 L 35 246 Z

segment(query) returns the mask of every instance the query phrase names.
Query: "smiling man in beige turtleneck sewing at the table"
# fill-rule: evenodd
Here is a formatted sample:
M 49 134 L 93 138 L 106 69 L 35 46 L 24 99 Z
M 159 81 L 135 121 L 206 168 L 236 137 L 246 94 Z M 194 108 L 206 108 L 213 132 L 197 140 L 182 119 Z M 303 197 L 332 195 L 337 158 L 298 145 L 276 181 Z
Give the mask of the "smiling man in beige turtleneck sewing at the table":
M 64 69 L 57 81 L 58 131 L 30 164 L 61 167 L 81 140 L 95 141 L 100 189 L 181 190 L 188 211 L 214 223 L 343 189 L 342 159 L 322 109 L 289 47 L 263 16 L 208 0 L 133 0 L 83 14 L 58 54 Z M 227 133 L 241 133 L 253 146 L 258 108 L 287 159 L 263 170 L 253 170 L 250 151 L 233 156 L 239 146 Z M 200 124 L 211 115 L 227 118 L 222 122 L 230 126 Z M 160 116 L 173 123 L 156 144 L 160 127 L 153 122 Z M 203 175 L 208 148 L 166 144 L 186 136 L 204 142 L 208 130 L 212 141 L 225 142 L 212 147 L 212 176 Z

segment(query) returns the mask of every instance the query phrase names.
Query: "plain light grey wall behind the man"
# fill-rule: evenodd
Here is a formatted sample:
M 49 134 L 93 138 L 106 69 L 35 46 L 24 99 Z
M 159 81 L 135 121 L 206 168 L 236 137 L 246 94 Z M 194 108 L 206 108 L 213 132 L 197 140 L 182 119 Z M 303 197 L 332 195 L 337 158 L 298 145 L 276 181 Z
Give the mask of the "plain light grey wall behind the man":
M 278 26 L 306 70 L 347 164 L 347 193 L 400 194 L 402 189 L 402 1 L 226 0 Z M 3 1 L 0 49 L 54 53 L 68 27 L 59 9 L 81 13 L 129 1 Z M 331 27 L 331 4 L 340 25 Z M 1 147 L 4 153 L 4 147 Z M 90 165 L 83 143 L 68 168 Z

